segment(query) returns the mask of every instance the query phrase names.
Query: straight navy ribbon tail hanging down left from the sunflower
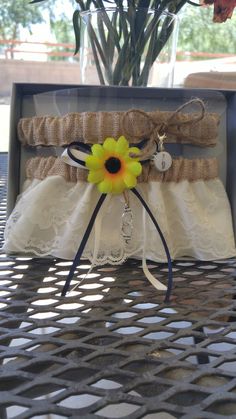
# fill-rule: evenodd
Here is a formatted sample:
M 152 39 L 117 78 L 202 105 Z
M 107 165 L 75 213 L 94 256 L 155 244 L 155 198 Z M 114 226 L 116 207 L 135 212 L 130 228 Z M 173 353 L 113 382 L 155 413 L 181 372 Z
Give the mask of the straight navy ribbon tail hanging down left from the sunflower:
M 79 262 L 80 262 L 80 258 L 81 258 L 82 254 L 83 254 L 84 248 L 85 248 L 86 243 L 87 243 L 87 241 L 88 241 L 88 239 L 89 239 L 89 236 L 90 236 L 90 233 L 91 233 L 91 231 L 92 231 L 92 228 L 93 228 L 94 222 L 95 222 L 95 220 L 96 220 L 96 217 L 97 217 L 97 215 L 98 215 L 98 212 L 99 212 L 99 210 L 100 210 L 100 208 L 101 208 L 101 206 L 102 206 L 102 204 L 103 204 L 103 202 L 104 202 L 104 200 L 105 200 L 106 196 L 107 196 L 106 194 L 102 194 L 102 195 L 100 196 L 100 198 L 99 198 L 99 200 L 98 200 L 98 202 L 97 202 L 97 205 L 96 205 L 96 207 L 95 207 L 95 209 L 94 209 L 94 211 L 93 211 L 93 214 L 92 214 L 92 216 L 91 216 L 91 218 L 90 218 L 90 221 L 89 221 L 89 223 L 88 223 L 87 229 L 86 229 L 86 231 L 85 231 L 85 233 L 84 233 L 84 236 L 83 236 L 83 238 L 82 238 L 82 240 L 81 240 L 81 243 L 80 243 L 79 249 L 78 249 L 78 251 L 77 251 L 77 253 L 76 253 L 76 255 L 75 255 L 75 258 L 74 258 L 74 260 L 73 260 L 73 263 L 72 263 L 72 265 L 71 265 L 71 268 L 70 268 L 69 274 L 68 274 L 68 276 L 67 276 L 67 278 L 66 278 L 66 282 L 65 282 L 65 285 L 64 285 L 63 290 L 62 290 L 62 293 L 61 293 L 61 296 L 62 296 L 62 297 L 64 297 L 64 296 L 66 295 L 66 293 L 67 293 L 67 291 L 68 291 L 68 289 L 69 289 L 69 286 L 70 286 L 71 280 L 72 280 L 72 278 L 73 278 L 73 276 L 74 276 L 74 273 L 75 273 L 75 269 L 76 269 L 77 265 L 78 265 L 78 264 L 79 264 Z

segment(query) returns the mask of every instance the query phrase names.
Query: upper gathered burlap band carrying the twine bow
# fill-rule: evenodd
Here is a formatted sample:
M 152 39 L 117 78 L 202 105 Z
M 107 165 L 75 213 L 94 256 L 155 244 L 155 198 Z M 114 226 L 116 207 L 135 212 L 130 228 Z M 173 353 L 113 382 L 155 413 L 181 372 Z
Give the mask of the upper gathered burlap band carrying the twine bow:
M 24 145 L 30 146 L 66 146 L 78 140 L 89 144 L 103 143 L 107 137 L 117 139 L 124 135 L 124 114 L 126 112 L 83 112 L 62 117 L 22 118 L 18 123 L 18 137 Z M 150 133 L 151 119 L 157 130 L 166 125 L 168 143 L 200 147 L 216 145 L 218 114 L 205 113 L 200 121 L 195 120 L 197 113 L 178 112 L 174 118 L 173 112 L 169 111 L 146 112 L 146 115 L 147 117 L 138 112 L 129 113 L 128 121 L 126 120 L 126 125 L 129 125 L 129 132 L 126 134 L 128 141 L 137 143 L 141 138 L 149 138 L 150 135 L 146 137 L 145 132 Z

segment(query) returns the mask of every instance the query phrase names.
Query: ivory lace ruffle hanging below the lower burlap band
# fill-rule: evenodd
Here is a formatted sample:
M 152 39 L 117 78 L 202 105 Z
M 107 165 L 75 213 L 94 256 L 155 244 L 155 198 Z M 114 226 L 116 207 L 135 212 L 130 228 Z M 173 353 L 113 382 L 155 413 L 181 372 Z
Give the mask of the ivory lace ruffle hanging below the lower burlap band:
M 166 239 L 172 259 L 216 260 L 236 255 L 231 211 L 219 179 L 139 184 Z M 73 259 L 100 197 L 95 185 L 67 182 L 61 176 L 26 180 L 5 229 L 4 250 Z M 158 233 L 142 205 L 129 193 L 133 233 L 129 244 L 121 234 L 124 198 L 111 196 L 103 211 L 96 264 L 120 264 L 128 257 L 142 259 L 144 233 L 147 259 L 166 262 Z M 145 228 L 145 232 L 144 232 Z M 94 229 L 83 258 L 93 261 Z

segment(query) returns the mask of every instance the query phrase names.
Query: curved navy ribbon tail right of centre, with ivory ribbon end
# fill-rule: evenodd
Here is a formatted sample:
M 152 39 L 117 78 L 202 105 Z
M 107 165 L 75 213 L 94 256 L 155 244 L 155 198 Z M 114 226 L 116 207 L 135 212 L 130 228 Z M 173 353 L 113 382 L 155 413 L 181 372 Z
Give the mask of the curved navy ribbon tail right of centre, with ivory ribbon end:
M 167 262 L 168 262 L 168 284 L 167 284 L 167 290 L 166 290 L 166 295 L 165 295 L 165 303 L 167 303 L 167 302 L 169 302 L 169 300 L 170 300 L 170 294 L 171 294 L 171 290 L 172 290 L 172 285 L 173 285 L 173 273 L 172 273 L 172 262 L 171 262 L 171 256 L 170 256 L 170 252 L 169 252 L 169 249 L 168 249 L 168 246 L 167 246 L 167 243 L 166 243 L 166 240 L 165 240 L 165 238 L 164 238 L 164 236 L 163 236 L 163 233 L 162 233 L 162 231 L 161 231 L 161 229 L 160 229 L 160 227 L 159 227 L 159 225 L 158 225 L 158 223 L 157 223 L 157 221 L 156 221 L 156 219 L 155 219 L 155 217 L 154 217 L 154 215 L 152 214 L 152 212 L 151 212 L 151 210 L 150 210 L 150 208 L 148 207 L 148 205 L 146 204 L 146 202 L 144 201 L 144 199 L 142 198 L 142 196 L 140 195 L 140 193 L 135 189 L 135 188 L 133 188 L 133 189 L 131 189 L 131 191 L 134 193 L 134 195 L 136 195 L 136 197 L 139 199 L 139 201 L 141 202 L 141 204 L 143 205 L 143 207 L 145 208 L 145 210 L 147 211 L 147 213 L 148 213 L 148 215 L 149 215 L 149 217 L 151 218 L 151 220 L 152 220 L 152 222 L 153 222 L 153 224 L 155 225 L 155 227 L 156 227 L 156 230 L 157 230 L 157 232 L 158 232 L 158 234 L 159 234 L 159 236 L 160 236 L 160 238 L 161 238 L 161 241 L 162 241 L 162 245 L 163 245 L 163 247 L 164 247 L 164 250 L 165 250 L 165 253 L 166 253 L 166 257 L 167 257 Z M 145 275 L 146 275 L 146 272 L 145 272 L 145 264 L 146 264 L 146 261 L 145 261 L 145 263 L 143 263 L 143 269 L 144 269 L 144 273 L 145 273 Z M 146 266 L 147 267 L 147 266 Z M 153 284 L 153 279 L 152 278 L 149 278 L 149 274 L 151 275 L 151 277 L 152 278 L 154 278 L 153 276 L 152 276 L 152 274 L 148 271 L 148 269 L 147 269 L 147 278 L 149 279 L 149 281 Z M 155 279 L 155 278 L 154 278 Z M 155 279 L 155 281 L 157 281 L 156 279 Z M 157 281 L 158 283 L 159 283 L 159 281 Z M 154 285 L 154 284 L 153 284 Z M 155 285 L 154 285 L 155 286 Z M 157 287 L 156 287 L 157 288 Z M 163 289 L 163 288 L 162 288 Z

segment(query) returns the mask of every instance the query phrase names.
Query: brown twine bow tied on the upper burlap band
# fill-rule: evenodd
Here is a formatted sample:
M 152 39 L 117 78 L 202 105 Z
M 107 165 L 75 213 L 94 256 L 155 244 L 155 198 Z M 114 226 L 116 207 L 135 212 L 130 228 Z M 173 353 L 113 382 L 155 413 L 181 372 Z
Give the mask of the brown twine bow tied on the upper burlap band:
M 186 120 L 179 120 L 176 118 L 182 109 L 193 104 L 200 107 L 199 114 L 191 115 L 191 118 Z M 137 117 L 137 114 L 140 115 L 141 118 L 141 123 L 139 125 L 133 124 L 133 120 L 135 116 Z M 141 154 L 139 154 L 140 160 L 146 160 L 156 151 L 156 146 L 160 136 L 163 137 L 168 134 L 176 134 L 176 128 L 173 129 L 174 126 L 177 126 L 179 130 L 179 128 L 183 125 L 192 125 L 201 121 L 204 118 L 204 115 L 205 105 L 203 101 L 195 98 L 179 106 L 166 121 L 161 123 L 159 121 L 155 121 L 150 114 L 141 109 L 130 109 L 123 115 L 122 128 L 124 135 L 127 135 L 128 137 L 131 136 L 148 139 Z

